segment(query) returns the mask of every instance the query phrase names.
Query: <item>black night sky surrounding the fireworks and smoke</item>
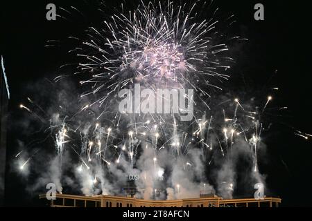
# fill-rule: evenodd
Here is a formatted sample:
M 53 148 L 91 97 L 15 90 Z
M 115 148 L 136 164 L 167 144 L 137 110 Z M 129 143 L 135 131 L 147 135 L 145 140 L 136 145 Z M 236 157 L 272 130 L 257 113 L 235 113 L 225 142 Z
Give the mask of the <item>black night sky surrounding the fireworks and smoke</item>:
M 107 2 L 107 6 L 116 6 Z M 61 47 L 45 48 L 50 39 L 64 39 L 87 28 L 87 19 L 71 22 L 47 21 L 46 4 L 57 7 L 92 8 L 92 1 L 1 1 L 0 54 L 3 55 L 10 86 L 6 206 L 35 206 L 37 193 L 25 191 L 26 181 L 13 171 L 11 161 L 17 153 L 21 119 L 19 104 L 28 96 L 37 79 L 55 77 L 66 53 Z M 254 4 L 263 3 L 265 20 L 254 20 Z M 288 125 L 312 133 L 311 108 L 311 16 L 306 1 L 214 1 L 214 6 L 233 13 L 238 20 L 239 34 L 249 41 L 235 57 L 236 77 L 254 79 L 253 86 L 266 86 L 275 73 L 279 87 L 275 102 L 288 106 L 284 119 Z M 58 9 L 57 9 L 58 13 Z M 230 15 L 230 14 L 229 14 Z M 77 24 L 78 23 L 78 24 Z M 231 83 L 231 81 L 229 81 Z M 40 92 L 38 92 L 40 93 Z M 274 124 L 273 124 L 274 125 Z M 276 127 L 266 137 L 266 164 L 260 169 L 267 174 L 270 193 L 282 198 L 282 206 L 312 206 L 311 140 L 293 135 L 288 126 Z

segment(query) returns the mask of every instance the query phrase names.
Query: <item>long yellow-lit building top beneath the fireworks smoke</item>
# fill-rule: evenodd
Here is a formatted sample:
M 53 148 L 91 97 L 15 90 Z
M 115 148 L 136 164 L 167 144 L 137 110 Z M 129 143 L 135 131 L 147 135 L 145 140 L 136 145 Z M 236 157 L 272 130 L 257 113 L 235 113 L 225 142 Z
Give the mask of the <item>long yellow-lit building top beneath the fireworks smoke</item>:
M 46 195 L 40 195 L 39 198 L 46 200 Z M 55 200 L 49 200 L 49 206 L 52 207 L 278 207 L 280 203 L 280 198 L 223 200 L 216 195 L 182 200 L 141 200 L 111 195 L 56 194 Z

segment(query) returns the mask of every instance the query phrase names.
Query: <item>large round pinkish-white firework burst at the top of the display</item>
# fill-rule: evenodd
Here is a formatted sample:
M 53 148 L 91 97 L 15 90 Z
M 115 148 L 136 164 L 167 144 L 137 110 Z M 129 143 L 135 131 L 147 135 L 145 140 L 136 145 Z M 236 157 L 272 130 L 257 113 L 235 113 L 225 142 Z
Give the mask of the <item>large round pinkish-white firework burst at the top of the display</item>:
M 218 30 L 232 24 L 232 17 L 222 25 L 215 13 L 199 19 L 198 11 L 206 4 L 141 1 L 135 10 L 125 11 L 122 5 L 121 12 L 101 26 L 89 27 L 87 37 L 71 50 L 81 58 L 78 73 L 89 76 L 80 84 L 92 85 L 82 96 L 97 93 L 91 105 L 105 106 L 120 88 L 134 82 L 146 87 L 193 88 L 204 96 L 212 88 L 221 90 L 220 83 L 229 78 L 225 70 L 234 61 L 225 52 L 231 42 L 242 39 Z

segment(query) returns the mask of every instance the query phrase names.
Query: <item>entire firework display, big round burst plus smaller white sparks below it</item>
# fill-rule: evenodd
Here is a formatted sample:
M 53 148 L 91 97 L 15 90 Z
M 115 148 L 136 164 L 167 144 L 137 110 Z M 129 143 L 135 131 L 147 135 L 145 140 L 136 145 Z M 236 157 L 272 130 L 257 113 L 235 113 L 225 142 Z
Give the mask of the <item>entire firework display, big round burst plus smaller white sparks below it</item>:
M 272 96 L 266 102 L 260 98 L 261 111 L 248 99 L 244 102 L 225 95 L 218 98 L 216 91 L 222 92 L 222 82 L 229 79 L 227 71 L 234 62 L 227 55 L 229 44 L 243 39 L 220 32 L 215 12 L 201 19 L 198 11 L 207 7 L 205 4 L 196 1 L 179 6 L 171 1 L 141 1 L 133 11 L 123 10 L 122 6 L 121 12 L 101 26 L 89 27 L 85 38 L 75 38 L 79 46 L 71 52 L 81 60 L 75 67 L 78 72 L 73 73 L 80 77 L 80 84 L 89 88 L 79 99 L 87 100 L 87 104 L 77 101 L 69 108 L 58 104 L 53 117 L 31 99 L 28 107 L 21 104 L 20 108 L 44 122 L 49 131 L 59 174 L 65 173 L 60 159 L 71 153 L 76 160 L 75 176 L 82 180 L 86 195 L 121 194 L 121 174 L 135 172 L 144 177 L 135 183 L 144 198 L 158 198 L 162 189 L 168 188 L 177 193 L 175 198 L 182 197 L 190 185 L 198 189 L 204 186 L 207 193 L 211 186 L 203 169 L 234 168 L 240 148 L 252 157 L 252 174 L 257 177 L 254 182 L 263 182 L 259 178 L 258 152 L 263 146 L 261 135 L 268 128 L 262 119 L 270 109 Z M 231 19 L 226 20 L 232 24 Z M 58 76 L 55 81 L 63 78 Z M 196 106 L 193 119 L 183 122 L 172 110 L 167 114 L 120 112 L 119 92 L 135 84 L 153 91 L 195 90 L 193 96 L 185 96 Z M 296 134 L 311 136 L 300 131 Z M 20 169 L 29 164 L 28 160 Z M 165 178 L 159 183 L 159 179 L 148 179 L 146 174 L 154 178 L 166 175 L 171 180 Z M 232 195 L 232 172 L 218 182 L 220 186 L 224 183 Z

